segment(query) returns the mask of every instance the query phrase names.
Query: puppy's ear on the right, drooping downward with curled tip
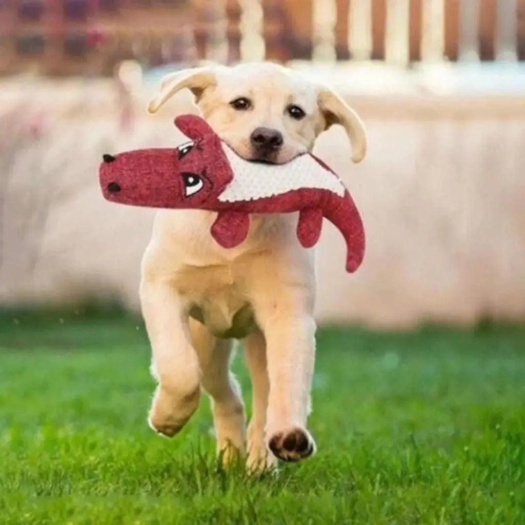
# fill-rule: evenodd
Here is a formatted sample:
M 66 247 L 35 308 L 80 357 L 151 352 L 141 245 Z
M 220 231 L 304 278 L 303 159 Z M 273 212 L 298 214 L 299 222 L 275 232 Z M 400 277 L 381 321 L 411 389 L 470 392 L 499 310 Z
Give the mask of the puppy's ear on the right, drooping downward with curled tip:
M 332 124 L 341 124 L 352 144 L 352 161 L 361 162 L 366 155 L 366 130 L 359 115 L 328 88 L 322 88 L 317 103 L 326 121 L 325 130 Z

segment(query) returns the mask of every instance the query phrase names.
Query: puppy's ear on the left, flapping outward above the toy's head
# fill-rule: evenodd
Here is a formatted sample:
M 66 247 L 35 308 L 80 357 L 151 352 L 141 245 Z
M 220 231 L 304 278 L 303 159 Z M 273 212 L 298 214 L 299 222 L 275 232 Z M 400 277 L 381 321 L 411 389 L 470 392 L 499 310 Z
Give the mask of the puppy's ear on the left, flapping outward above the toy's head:
M 198 67 L 183 69 L 170 75 L 166 75 L 161 80 L 161 92 L 151 99 L 146 110 L 153 114 L 159 111 L 164 103 L 181 89 L 189 89 L 195 96 L 196 101 L 202 97 L 204 90 L 214 86 L 216 77 L 210 67 Z

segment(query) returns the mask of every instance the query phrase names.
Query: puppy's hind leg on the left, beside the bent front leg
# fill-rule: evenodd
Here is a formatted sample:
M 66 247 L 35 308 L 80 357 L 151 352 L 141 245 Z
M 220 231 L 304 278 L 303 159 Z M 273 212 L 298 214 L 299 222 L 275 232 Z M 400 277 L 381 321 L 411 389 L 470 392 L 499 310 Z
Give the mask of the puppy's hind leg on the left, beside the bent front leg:
M 240 387 L 229 370 L 231 341 L 215 338 L 204 324 L 190 319 L 193 346 L 202 371 L 202 387 L 212 403 L 217 451 L 228 464 L 246 447 L 244 405 Z

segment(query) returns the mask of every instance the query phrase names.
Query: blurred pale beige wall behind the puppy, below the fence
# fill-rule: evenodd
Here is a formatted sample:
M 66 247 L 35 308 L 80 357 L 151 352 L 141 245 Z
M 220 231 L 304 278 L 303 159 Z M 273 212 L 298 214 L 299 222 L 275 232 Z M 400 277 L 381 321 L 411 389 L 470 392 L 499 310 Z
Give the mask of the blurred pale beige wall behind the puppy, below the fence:
M 123 134 L 111 86 L 46 86 L 23 92 L 10 84 L 0 102 L 0 303 L 97 294 L 136 308 L 154 212 L 105 202 L 97 167 L 104 152 L 176 143 L 171 115 L 192 110 L 189 99 L 155 119 L 142 117 L 138 100 L 141 116 Z M 322 135 L 316 153 L 352 191 L 367 254 L 356 274 L 345 274 L 343 244 L 325 224 L 319 320 L 400 326 L 486 314 L 523 318 L 522 99 L 352 102 L 367 124 L 366 161 L 350 163 L 341 129 Z

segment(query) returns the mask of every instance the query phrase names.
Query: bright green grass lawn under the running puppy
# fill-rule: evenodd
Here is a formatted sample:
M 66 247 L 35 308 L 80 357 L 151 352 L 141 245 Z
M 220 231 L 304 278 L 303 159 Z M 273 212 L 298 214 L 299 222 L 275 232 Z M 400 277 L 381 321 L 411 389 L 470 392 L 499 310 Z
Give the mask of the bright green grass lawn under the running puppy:
M 155 436 L 148 366 L 117 312 L 0 314 L 0 523 L 525 523 L 523 327 L 320 330 L 319 453 L 277 479 L 217 466 L 207 403 Z

